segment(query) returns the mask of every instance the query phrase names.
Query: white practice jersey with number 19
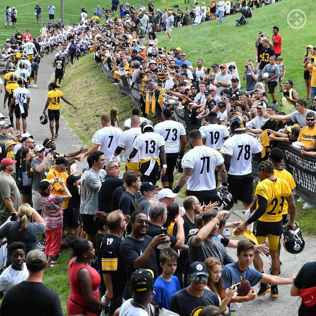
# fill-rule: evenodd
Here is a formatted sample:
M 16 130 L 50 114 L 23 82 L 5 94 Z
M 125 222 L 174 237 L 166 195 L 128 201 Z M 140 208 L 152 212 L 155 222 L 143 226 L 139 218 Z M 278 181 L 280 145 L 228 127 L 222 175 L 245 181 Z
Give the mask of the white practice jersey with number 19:
M 224 137 L 229 136 L 228 128 L 225 125 L 218 125 L 216 123 L 201 126 L 199 131 L 203 138 L 205 138 L 205 146 L 221 149 L 224 143 Z

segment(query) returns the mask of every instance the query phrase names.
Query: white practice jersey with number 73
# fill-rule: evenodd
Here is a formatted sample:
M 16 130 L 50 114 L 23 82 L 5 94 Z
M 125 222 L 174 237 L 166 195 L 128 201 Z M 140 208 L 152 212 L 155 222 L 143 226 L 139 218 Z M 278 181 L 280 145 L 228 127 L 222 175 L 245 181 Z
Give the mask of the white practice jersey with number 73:
M 165 151 L 167 154 L 178 153 L 180 136 L 186 135 L 184 126 L 173 120 L 166 120 L 156 124 L 155 133 L 161 135 L 165 140 Z

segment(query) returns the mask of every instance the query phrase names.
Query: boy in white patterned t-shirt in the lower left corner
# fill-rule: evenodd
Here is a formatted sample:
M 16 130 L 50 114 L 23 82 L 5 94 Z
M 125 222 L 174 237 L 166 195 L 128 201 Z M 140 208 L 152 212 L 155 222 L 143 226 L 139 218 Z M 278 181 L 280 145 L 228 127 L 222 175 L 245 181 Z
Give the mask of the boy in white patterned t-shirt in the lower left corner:
M 21 241 L 8 246 L 9 258 L 12 264 L 0 275 L 0 298 L 3 298 L 13 286 L 28 278 L 25 260 L 25 244 Z

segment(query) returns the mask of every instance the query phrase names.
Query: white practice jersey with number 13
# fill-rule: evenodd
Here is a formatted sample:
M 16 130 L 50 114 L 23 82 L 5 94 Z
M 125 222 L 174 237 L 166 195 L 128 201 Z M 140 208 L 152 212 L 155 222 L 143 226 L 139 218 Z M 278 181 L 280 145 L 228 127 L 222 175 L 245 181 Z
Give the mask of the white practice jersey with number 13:
M 165 141 L 162 136 L 146 132 L 135 138 L 133 147 L 140 151 L 140 160 L 158 159 L 159 147 L 164 144 Z

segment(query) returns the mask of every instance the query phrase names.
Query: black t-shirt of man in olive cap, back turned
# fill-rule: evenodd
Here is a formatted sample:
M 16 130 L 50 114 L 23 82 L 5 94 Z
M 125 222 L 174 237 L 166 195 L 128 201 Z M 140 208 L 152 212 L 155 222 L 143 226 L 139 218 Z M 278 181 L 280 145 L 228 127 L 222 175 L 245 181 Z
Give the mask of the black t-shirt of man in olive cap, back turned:
M 43 283 L 27 281 L 10 288 L 0 307 L 0 315 L 20 314 L 23 316 L 64 316 L 56 291 L 49 289 Z

